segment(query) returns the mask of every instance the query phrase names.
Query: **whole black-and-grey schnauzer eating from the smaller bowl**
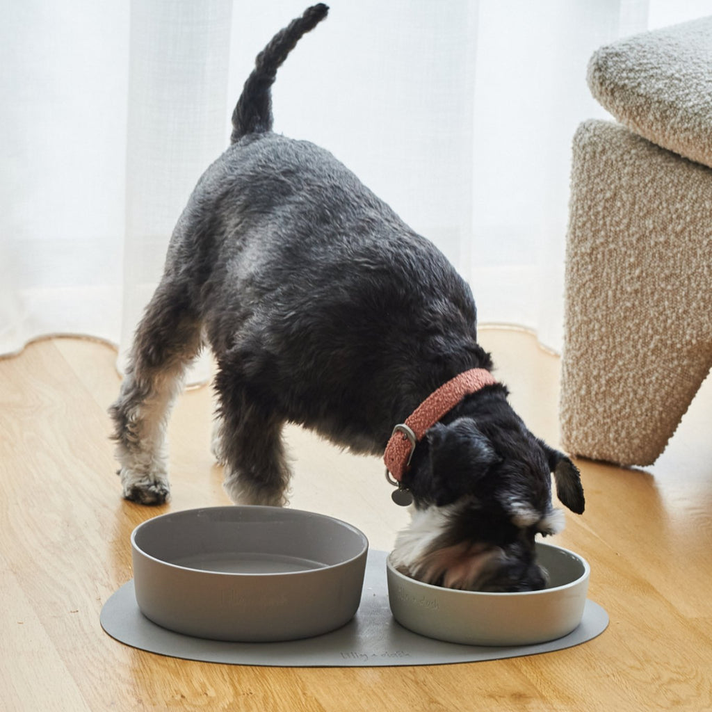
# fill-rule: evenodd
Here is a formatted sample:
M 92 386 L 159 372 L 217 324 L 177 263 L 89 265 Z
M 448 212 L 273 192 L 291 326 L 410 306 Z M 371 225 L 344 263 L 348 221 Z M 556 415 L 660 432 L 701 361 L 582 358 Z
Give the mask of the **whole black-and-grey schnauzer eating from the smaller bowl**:
M 232 501 L 286 504 L 285 422 L 359 453 L 393 440 L 409 461 L 391 466 L 392 481 L 412 500 L 397 567 L 451 588 L 540 589 L 535 535 L 563 525 L 551 475 L 582 513 L 580 473 L 508 404 L 471 290 L 443 254 L 330 153 L 272 131 L 277 69 L 327 12 L 310 7 L 258 55 L 231 145 L 179 218 L 110 408 L 123 496 L 166 501 L 167 418 L 209 345 L 213 450 Z M 463 387 L 467 373 L 478 384 Z M 409 426 L 430 394 L 440 410 Z

